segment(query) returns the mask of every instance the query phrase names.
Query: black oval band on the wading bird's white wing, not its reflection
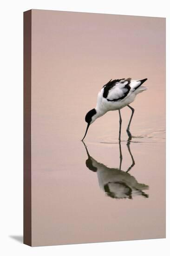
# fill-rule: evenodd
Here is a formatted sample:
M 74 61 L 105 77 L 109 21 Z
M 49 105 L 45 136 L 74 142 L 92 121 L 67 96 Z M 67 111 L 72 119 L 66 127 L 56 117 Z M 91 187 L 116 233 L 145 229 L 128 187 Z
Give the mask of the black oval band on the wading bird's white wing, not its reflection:
M 123 80 L 123 81 L 122 81 Z M 114 84 L 112 85 L 112 87 L 111 87 L 111 85 L 109 84 L 108 85 L 108 83 L 110 83 L 110 82 L 113 82 L 114 81 Z M 124 88 L 126 88 L 127 89 L 127 91 L 120 97 L 120 98 L 118 98 L 118 99 L 112 99 L 112 100 L 109 100 L 109 99 L 107 99 L 107 101 L 120 101 L 120 100 L 123 100 L 126 96 L 127 96 L 127 94 L 130 92 L 130 90 L 131 90 L 131 87 L 130 87 L 130 83 L 131 83 L 131 78 L 127 78 L 127 79 L 118 79 L 118 80 L 113 80 L 113 81 L 109 81 L 107 84 L 106 84 L 106 86 L 105 86 L 105 88 L 106 87 L 108 87 L 108 88 L 104 88 L 104 93 L 103 93 L 103 97 L 104 98 L 107 98 L 107 96 L 108 96 L 108 93 L 109 93 L 109 90 L 111 89 L 111 88 L 113 88 L 113 86 L 115 86 L 116 85 L 116 83 L 117 82 L 120 82 L 120 83 L 124 83 L 125 81 L 127 81 L 128 83 L 124 86 Z M 107 96 L 106 96 L 107 95 Z M 106 97 L 105 97 L 106 96 Z

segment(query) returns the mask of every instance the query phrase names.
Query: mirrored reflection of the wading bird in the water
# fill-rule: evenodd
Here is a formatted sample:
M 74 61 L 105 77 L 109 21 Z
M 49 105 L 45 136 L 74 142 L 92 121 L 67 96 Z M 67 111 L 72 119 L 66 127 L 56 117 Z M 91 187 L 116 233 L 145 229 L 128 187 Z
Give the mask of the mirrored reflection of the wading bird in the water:
M 119 168 L 109 168 L 104 164 L 97 162 L 92 156 L 89 154 L 88 149 L 83 142 L 88 159 L 85 164 L 86 167 L 91 171 L 96 172 L 98 175 L 99 186 L 102 190 L 105 191 L 106 195 L 111 198 L 129 198 L 132 199 L 136 195 L 141 195 L 144 197 L 149 197 L 148 194 L 144 193 L 143 190 L 149 189 L 149 186 L 138 183 L 134 176 L 130 175 L 129 171 L 135 165 L 135 161 L 133 159 L 133 155 L 130 150 L 130 141 L 127 143 L 128 152 L 131 155 L 131 166 L 127 169 L 127 171 L 121 170 L 122 164 L 122 150 L 121 150 L 121 142 L 119 142 L 119 153 L 120 153 L 120 164 Z

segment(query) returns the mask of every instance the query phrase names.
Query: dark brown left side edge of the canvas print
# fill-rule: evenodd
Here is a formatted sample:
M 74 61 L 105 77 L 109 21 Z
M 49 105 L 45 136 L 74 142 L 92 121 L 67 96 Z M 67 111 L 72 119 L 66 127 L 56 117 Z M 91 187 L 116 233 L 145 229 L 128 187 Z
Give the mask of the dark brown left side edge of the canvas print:
M 25 244 L 32 246 L 31 217 L 31 33 L 32 10 L 24 12 L 24 227 Z

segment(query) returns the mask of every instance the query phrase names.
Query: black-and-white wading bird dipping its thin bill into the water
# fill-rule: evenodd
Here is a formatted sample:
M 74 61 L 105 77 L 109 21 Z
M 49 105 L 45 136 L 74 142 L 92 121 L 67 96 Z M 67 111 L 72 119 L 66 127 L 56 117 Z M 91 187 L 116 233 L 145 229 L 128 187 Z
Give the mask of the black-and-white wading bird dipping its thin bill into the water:
M 127 134 L 129 139 L 131 139 L 130 125 L 132 116 L 134 114 L 134 108 L 129 104 L 135 100 L 137 94 L 143 92 L 147 88 L 142 86 L 142 84 L 147 80 L 131 80 L 127 79 L 117 79 L 110 80 L 104 85 L 101 91 L 98 93 L 96 108 L 93 108 L 85 115 L 85 121 L 87 122 L 87 128 L 85 135 L 87 134 L 89 126 L 100 116 L 105 115 L 108 111 L 118 110 L 119 112 L 119 141 L 121 140 L 121 124 L 122 118 L 120 109 L 124 107 L 131 108 L 131 118 L 127 127 Z M 84 140 L 83 137 L 82 141 Z

